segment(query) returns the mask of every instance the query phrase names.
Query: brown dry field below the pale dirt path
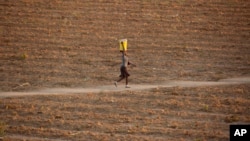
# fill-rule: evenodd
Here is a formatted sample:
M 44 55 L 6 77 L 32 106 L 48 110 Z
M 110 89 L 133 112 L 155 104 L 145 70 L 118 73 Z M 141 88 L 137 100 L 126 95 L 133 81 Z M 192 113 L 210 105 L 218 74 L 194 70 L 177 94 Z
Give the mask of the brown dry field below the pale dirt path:
M 248 84 L 13 97 L 0 99 L 0 113 L 6 141 L 228 141 L 230 124 L 250 123 L 249 92 Z

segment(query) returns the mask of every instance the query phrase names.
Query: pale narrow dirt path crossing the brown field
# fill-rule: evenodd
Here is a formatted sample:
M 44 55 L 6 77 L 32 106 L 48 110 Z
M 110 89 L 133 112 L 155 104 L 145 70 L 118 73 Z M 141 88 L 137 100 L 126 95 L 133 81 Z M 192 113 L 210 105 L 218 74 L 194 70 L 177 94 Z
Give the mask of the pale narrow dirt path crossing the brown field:
M 29 92 L 0 92 L 0 97 L 13 97 L 13 96 L 27 96 L 27 95 L 56 95 L 56 94 L 78 94 L 78 93 L 101 93 L 112 91 L 125 91 L 125 90 L 146 90 L 158 87 L 199 87 L 199 86 L 218 86 L 218 85 L 234 85 L 250 83 L 250 77 L 221 79 L 219 81 L 168 81 L 162 84 L 147 84 L 139 85 L 132 84 L 131 88 L 125 88 L 123 83 L 118 87 L 114 85 L 97 86 L 89 88 L 49 88 L 38 91 Z

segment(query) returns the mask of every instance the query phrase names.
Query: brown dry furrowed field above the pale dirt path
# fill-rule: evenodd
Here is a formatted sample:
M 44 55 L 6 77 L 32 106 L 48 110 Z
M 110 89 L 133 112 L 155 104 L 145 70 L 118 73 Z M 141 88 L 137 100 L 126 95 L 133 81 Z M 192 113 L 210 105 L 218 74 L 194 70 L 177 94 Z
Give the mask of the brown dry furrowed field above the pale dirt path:
M 0 2 L 0 90 L 87 87 L 119 76 L 127 38 L 132 83 L 250 75 L 250 1 Z

